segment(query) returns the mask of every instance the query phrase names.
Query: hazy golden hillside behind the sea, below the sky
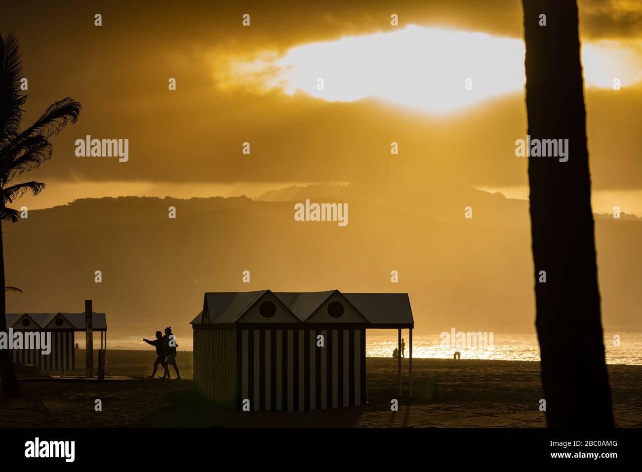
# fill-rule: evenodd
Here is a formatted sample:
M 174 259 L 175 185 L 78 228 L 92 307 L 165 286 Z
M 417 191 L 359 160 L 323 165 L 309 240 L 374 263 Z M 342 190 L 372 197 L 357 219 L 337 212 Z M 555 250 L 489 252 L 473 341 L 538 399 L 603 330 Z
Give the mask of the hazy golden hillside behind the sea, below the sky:
M 8 294 L 7 310 L 82 311 L 93 299 L 111 335 L 150 336 L 171 324 L 185 337 L 206 291 L 338 288 L 410 293 L 420 333 L 533 330 L 527 202 L 471 189 L 402 211 L 393 207 L 403 189 L 388 195 L 342 199 L 346 227 L 296 222 L 293 202 L 245 197 L 103 198 L 30 211 L 28 220 L 4 224 L 7 284 L 24 290 Z M 464 200 L 473 220 L 464 219 Z M 605 326 L 639 330 L 642 223 L 597 220 L 596 234 Z M 241 282 L 243 270 L 251 283 Z M 390 282 L 391 270 L 399 283 Z

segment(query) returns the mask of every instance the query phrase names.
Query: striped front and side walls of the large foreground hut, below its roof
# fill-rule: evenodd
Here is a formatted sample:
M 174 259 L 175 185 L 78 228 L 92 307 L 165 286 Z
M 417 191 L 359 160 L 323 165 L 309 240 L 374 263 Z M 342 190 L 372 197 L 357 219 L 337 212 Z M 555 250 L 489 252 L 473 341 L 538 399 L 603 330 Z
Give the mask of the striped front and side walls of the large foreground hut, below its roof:
M 235 329 L 194 329 L 194 389 L 214 405 L 232 410 L 248 399 L 252 411 L 306 411 L 363 404 L 365 329 L 241 329 L 238 339 Z

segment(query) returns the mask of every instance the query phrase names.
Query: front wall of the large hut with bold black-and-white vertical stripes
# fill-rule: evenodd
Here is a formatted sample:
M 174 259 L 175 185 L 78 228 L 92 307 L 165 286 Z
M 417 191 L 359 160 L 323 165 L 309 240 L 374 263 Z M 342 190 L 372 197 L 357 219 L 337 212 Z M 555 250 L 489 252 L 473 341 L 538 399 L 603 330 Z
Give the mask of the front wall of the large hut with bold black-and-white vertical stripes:
M 363 331 L 241 329 L 240 401 L 248 399 L 252 411 L 361 405 Z M 317 347 L 317 332 L 325 337 L 324 347 Z

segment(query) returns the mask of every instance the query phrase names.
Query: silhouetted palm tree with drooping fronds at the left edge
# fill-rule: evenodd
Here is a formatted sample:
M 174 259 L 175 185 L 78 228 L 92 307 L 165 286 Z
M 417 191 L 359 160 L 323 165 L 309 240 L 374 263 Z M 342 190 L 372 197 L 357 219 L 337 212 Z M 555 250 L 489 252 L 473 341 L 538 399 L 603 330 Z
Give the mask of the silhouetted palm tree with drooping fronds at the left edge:
M 0 286 L 5 286 L 2 221 L 19 220 L 19 212 L 6 205 L 26 191 L 37 195 L 45 186 L 34 181 L 14 184 L 13 179 L 38 168 L 51 157 L 49 138 L 69 121 L 75 123 L 81 109 L 80 103 L 69 97 L 56 101 L 31 127 L 21 132 L 22 105 L 26 101 L 20 90 L 21 78 L 18 40 L 12 33 L 0 35 Z M 5 291 L 0 291 L 0 331 L 6 332 Z M 6 398 L 22 393 L 7 349 L 0 349 L 0 376 Z

